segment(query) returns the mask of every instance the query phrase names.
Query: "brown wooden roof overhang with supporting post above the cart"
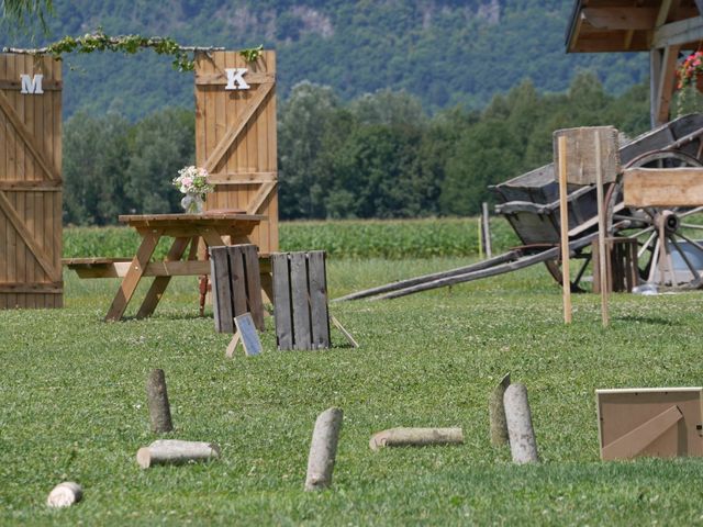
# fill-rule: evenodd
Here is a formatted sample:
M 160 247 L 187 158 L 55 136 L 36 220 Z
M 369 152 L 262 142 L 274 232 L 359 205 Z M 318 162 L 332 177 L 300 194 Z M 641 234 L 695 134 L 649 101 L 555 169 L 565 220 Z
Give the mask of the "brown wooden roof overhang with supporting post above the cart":
M 669 121 L 679 53 L 703 45 L 703 0 L 574 0 L 567 53 L 649 52 L 652 126 Z

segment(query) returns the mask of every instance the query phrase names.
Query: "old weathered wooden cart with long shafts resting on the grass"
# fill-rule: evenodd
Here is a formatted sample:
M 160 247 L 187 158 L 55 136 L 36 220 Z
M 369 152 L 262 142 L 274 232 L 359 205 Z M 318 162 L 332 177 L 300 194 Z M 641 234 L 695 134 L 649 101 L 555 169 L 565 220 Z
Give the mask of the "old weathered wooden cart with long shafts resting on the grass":
M 632 142 L 623 141 L 621 164 L 629 167 L 673 168 L 703 166 L 703 114 L 691 114 L 647 132 Z M 493 277 L 535 264 L 545 264 L 551 276 L 561 282 L 559 269 L 559 188 L 554 165 L 532 170 L 492 187 L 502 214 L 522 242 L 503 255 L 470 266 L 423 277 L 402 280 L 337 300 L 362 298 L 391 299 L 429 289 Z M 625 208 L 622 182 L 609 183 L 606 192 L 609 236 L 631 237 L 637 243 L 638 279 L 665 288 L 698 288 L 703 273 L 703 240 L 696 232 L 703 229 L 703 206 Z M 596 189 L 570 186 L 569 248 L 571 257 L 582 260 L 571 288 L 580 291 L 580 281 L 591 260 L 591 244 L 598 237 Z M 703 203 L 701 204 L 703 205 Z M 657 228 L 663 222 L 665 229 Z M 660 233 L 665 233 L 663 237 Z M 671 255 L 673 273 L 662 276 L 656 265 L 666 244 Z

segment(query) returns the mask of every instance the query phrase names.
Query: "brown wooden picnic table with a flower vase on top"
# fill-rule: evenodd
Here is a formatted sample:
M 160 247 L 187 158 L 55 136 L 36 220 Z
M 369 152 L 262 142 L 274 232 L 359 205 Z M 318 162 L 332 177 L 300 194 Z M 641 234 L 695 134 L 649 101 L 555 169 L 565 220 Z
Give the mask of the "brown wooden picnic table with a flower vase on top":
M 94 261 L 96 270 L 90 278 L 110 276 L 122 278 L 105 321 L 122 318 L 143 277 L 154 277 L 154 281 L 136 316 L 137 318 L 149 316 L 161 300 L 171 277 L 210 273 L 210 262 L 198 259 L 200 240 L 208 247 L 248 244 L 249 235 L 265 218 L 266 216 L 263 215 L 238 212 L 120 216 L 120 222 L 127 224 L 140 234 L 142 243 L 131 261 L 115 259 L 109 265 L 104 265 L 103 259 Z M 163 261 L 152 261 L 156 246 L 165 236 L 174 238 L 166 258 Z M 186 259 L 182 259 L 189 245 L 190 250 Z M 85 259 L 82 261 L 85 266 Z M 70 261 L 67 265 L 71 267 Z

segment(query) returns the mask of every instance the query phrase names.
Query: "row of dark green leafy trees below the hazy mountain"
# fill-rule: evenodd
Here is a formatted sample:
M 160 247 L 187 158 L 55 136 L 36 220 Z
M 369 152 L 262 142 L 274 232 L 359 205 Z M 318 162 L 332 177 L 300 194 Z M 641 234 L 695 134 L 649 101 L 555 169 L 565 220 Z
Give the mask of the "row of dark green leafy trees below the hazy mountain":
M 581 74 L 559 94 L 523 82 L 481 112 L 428 115 L 419 99 L 377 91 L 345 102 L 301 82 L 279 104 L 281 218 L 466 215 L 490 201 L 488 186 L 551 159 L 551 134 L 612 124 L 631 136 L 649 127 L 648 89 L 606 93 Z M 170 184 L 194 162 L 190 109 L 130 122 L 119 112 L 78 112 L 64 127 L 65 223 L 105 225 L 121 213 L 178 210 Z

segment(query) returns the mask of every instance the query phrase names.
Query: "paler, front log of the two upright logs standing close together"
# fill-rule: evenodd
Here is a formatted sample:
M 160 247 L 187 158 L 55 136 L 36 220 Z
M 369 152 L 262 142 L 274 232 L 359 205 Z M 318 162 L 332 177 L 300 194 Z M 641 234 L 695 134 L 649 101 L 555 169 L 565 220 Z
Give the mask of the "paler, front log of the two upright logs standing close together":
M 537 441 L 527 402 L 527 388 L 520 383 L 511 384 L 505 390 L 503 403 L 513 462 L 521 464 L 538 462 Z

